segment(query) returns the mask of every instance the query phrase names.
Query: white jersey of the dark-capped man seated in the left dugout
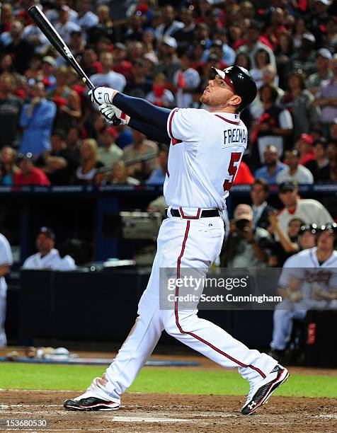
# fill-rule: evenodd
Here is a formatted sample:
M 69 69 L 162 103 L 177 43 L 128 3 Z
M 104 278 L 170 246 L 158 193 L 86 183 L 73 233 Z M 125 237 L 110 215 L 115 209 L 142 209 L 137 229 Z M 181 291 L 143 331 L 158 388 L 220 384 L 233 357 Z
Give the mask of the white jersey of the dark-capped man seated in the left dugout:
M 61 258 L 58 250 L 53 248 L 50 253 L 43 257 L 40 253 L 30 255 L 25 259 L 23 269 L 74 270 L 76 265 L 70 255 Z

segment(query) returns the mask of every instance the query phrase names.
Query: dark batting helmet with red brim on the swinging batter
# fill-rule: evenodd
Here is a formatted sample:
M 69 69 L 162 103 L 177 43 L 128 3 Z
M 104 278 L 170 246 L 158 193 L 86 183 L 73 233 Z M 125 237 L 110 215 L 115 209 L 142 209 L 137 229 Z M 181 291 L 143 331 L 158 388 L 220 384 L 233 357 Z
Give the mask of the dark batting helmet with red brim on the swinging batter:
M 228 67 L 223 71 L 213 67 L 221 78 L 226 81 L 229 87 L 241 97 L 241 104 L 239 110 L 244 110 L 253 100 L 256 98 L 258 89 L 256 83 L 251 78 L 249 71 L 243 67 L 239 67 L 234 64 L 232 67 Z

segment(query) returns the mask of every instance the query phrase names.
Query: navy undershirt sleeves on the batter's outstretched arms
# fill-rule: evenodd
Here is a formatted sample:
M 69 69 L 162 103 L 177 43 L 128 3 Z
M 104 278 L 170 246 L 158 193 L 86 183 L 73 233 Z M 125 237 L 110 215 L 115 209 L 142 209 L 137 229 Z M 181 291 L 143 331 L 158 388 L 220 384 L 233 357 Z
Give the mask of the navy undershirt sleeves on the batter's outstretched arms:
M 134 120 L 155 125 L 156 129 L 160 129 L 167 135 L 167 120 L 171 110 L 161 108 L 149 103 L 141 98 L 133 98 L 126 96 L 123 93 L 117 93 L 113 98 L 113 105 L 126 112 Z

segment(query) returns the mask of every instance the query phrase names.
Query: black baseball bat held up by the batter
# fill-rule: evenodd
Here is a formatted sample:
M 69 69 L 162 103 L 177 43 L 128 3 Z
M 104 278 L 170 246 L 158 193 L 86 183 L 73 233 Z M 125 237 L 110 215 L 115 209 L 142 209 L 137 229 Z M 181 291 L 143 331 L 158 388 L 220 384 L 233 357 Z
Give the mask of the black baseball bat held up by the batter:
M 62 55 L 62 57 L 72 66 L 72 68 L 79 75 L 81 80 L 86 84 L 88 88 L 91 90 L 95 88 L 93 83 L 91 83 L 90 79 L 84 72 L 84 70 L 79 66 L 72 52 L 67 47 L 67 44 L 64 42 L 62 37 L 57 33 L 52 23 L 48 20 L 45 14 L 41 11 L 38 6 L 31 6 L 28 9 L 28 13 L 32 17 L 34 23 L 38 25 L 38 28 L 42 31 L 42 33 L 47 37 L 47 40 L 52 44 L 52 46 Z M 113 117 L 113 125 L 120 125 L 120 120 L 117 117 Z

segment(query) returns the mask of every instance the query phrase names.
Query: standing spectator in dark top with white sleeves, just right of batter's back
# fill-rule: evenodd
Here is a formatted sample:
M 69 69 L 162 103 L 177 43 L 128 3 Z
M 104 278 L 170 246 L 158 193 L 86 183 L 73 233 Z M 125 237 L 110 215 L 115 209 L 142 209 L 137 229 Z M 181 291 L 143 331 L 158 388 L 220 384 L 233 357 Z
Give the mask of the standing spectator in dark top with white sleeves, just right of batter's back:
M 258 165 L 261 165 L 263 151 L 270 143 L 278 148 L 279 156 L 282 155 L 284 139 L 292 134 L 293 124 L 290 112 L 276 104 L 278 92 L 275 87 L 265 84 L 260 88 L 259 93 L 264 112 L 254 127 L 251 141 L 253 142 L 252 157 Z

